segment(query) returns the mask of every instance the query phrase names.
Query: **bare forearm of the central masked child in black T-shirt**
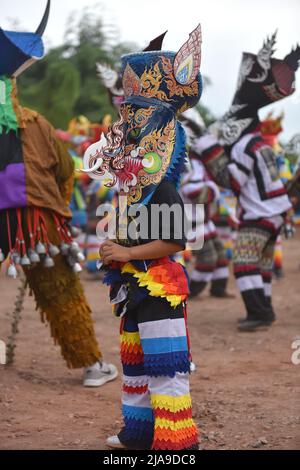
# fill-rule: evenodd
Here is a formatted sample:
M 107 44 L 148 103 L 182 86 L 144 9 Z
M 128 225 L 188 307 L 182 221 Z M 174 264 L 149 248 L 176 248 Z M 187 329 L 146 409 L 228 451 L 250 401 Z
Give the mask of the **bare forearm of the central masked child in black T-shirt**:
M 170 256 L 178 251 L 182 251 L 182 246 L 177 243 L 155 240 L 145 245 L 134 246 L 129 249 L 129 257 L 131 260 L 138 259 L 158 259 L 164 256 Z

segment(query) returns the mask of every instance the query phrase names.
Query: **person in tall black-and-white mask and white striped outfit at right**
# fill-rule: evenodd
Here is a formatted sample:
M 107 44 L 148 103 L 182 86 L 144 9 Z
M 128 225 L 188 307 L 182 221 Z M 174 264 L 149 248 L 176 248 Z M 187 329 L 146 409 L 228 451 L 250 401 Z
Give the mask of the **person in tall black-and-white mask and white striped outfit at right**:
M 276 318 L 271 302 L 274 245 L 291 207 L 276 155 L 261 135 L 258 110 L 295 91 L 300 47 L 278 60 L 272 57 L 274 45 L 275 34 L 257 55 L 243 54 L 229 111 L 195 145 L 209 174 L 238 198 L 240 224 L 233 262 L 247 311 L 240 331 L 267 327 Z

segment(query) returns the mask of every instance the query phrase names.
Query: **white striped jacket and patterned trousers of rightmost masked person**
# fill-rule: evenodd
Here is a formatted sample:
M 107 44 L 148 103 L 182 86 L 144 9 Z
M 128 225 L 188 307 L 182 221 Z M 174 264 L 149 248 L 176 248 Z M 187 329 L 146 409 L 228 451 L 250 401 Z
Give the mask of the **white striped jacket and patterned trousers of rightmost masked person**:
M 274 319 L 271 277 L 274 245 L 291 207 L 276 157 L 257 134 L 244 135 L 231 158 L 212 135 L 200 138 L 197 151 L 217 182 L 238 197 L 240 225 L 234 248 L 234 273 L 249 319 Z

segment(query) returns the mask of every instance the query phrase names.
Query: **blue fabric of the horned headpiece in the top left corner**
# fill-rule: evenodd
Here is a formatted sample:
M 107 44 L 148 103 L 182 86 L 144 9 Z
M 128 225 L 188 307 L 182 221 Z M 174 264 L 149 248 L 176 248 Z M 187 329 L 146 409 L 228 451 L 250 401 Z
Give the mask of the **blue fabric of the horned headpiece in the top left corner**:
M 43 40 L 38 34 L 0 29 L 0 75 L 12 76 L 29 59 L 43 55 Z

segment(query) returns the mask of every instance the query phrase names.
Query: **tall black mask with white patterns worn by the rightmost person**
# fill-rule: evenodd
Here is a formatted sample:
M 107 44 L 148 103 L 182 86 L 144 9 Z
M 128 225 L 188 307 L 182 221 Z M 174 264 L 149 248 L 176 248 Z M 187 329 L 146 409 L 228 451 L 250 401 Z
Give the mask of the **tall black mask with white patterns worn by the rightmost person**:
M 276 33 L 264 42 L 257 55 L 243 54 L 232 105 L 213 126 L 223 145 L 233 145 L 243 134 L 255 129 L 260 108 L 294 93 L 300 47 L 279 60 L 272 57 L 275 42 Z

